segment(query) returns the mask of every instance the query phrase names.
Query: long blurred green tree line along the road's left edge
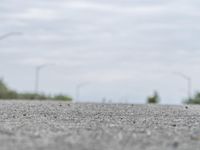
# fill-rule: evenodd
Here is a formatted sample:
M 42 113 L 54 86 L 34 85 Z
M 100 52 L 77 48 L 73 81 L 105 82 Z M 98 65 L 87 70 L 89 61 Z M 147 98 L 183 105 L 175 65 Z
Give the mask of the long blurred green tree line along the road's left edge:
M 72 101 L 72 98 L 66 95 L 58 94 L 55 96 L 36 94 L 36 93 L 18 93 L 11 90 L 2 79 L 0 79 L 0 99 L 21 99 L 21 100 L 62 100 Z

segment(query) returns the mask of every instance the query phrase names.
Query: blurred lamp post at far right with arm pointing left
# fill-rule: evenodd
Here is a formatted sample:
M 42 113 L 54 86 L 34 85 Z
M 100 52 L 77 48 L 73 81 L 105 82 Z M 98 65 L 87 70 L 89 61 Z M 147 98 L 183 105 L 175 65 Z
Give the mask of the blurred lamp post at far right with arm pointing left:
M 173 73 L 175 75 L 182 77 L 183 79 L 185 79 L 187 81 L 187 95 L 188 95 L 188 100 L 190 100 L 191 93 L 192 93 L 192 79 L 189 76 L 187 76 L 181 72 L 173 72 Z

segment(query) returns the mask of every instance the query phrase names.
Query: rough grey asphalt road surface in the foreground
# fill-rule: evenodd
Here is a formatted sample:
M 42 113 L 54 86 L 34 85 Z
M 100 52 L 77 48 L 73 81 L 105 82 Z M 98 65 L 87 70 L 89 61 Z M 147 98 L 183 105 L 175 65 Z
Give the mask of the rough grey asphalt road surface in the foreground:
M 200 106 L 0 101 L 0 150 L 200 150 Z

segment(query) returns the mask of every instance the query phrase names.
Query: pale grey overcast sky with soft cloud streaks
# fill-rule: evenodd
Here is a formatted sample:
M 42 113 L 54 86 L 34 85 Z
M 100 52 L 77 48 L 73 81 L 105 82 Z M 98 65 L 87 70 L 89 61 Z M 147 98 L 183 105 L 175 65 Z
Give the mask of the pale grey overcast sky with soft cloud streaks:
M 192 78 L 200 90 L 198 0 L 1 0 L 0 77 L 18 91 L 39 90 L 80 101 L 144 103 L 157 90 L 180 104 Z

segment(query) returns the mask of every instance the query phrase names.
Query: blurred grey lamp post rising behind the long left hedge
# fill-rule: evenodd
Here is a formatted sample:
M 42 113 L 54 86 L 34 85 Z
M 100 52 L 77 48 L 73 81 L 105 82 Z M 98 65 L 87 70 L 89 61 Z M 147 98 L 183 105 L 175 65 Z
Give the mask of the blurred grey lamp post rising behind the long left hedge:
M 36 69 L 35 69 L 35 94 L 38 94 L 38 92 L 39 92 L 40 70 L 49 65 L 51 65 L 51 64 L 43 64 L 43 65 L 36 66 Z

